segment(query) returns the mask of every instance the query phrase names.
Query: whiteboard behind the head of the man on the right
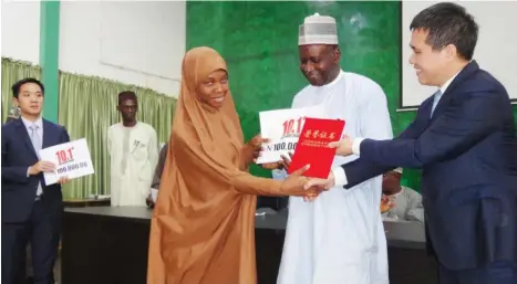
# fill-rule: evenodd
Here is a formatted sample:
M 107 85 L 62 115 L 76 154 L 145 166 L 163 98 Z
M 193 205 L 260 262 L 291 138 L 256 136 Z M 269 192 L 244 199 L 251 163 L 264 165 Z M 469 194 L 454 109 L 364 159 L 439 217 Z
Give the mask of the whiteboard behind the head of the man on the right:
M 422 10 L 440 1 L 403 1 L 402 3 L 402 108 L 417 107 L 433 95 L 436 87 L 420 85 L 410 65 L 410 24 Z M 479 34 L 474 60 L 495 76 L 517 99 L 517 1 L 455 1 L 474 15 Z

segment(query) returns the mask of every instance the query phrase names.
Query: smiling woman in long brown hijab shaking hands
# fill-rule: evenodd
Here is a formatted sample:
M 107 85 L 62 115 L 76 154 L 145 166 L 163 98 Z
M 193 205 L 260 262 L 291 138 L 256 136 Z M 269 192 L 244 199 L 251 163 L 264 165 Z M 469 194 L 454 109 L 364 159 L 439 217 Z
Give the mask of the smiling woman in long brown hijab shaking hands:
M 298 170 L 285 181 L 248 172 L 260 138 L 244 144 L 225 60 L 187 52 L 149 236 L 147 284 L 255 284 L 260 196 L 307 196 Z M 254 145 L 251 145 L 254 144 Z

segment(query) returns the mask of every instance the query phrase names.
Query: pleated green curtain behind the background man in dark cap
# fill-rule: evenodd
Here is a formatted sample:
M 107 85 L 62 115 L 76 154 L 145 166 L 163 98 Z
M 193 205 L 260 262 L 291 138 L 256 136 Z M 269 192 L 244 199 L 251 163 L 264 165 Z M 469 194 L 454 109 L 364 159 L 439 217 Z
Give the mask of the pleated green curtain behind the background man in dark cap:
M 63 188 L 63 199 L 75 200 L 91 194 L 110 194 L 110 155 L 107 128 L 120 122 L 117 94 L 134 91 L 138 97 L 138 120 L 156 129 L 159 143 L 169 138 L 176 99 L 152 90 L 126 85 L 101 77 L 61 73 L 59 124 L 72 140 L 85 138 L 95 173 L 72 180 Z

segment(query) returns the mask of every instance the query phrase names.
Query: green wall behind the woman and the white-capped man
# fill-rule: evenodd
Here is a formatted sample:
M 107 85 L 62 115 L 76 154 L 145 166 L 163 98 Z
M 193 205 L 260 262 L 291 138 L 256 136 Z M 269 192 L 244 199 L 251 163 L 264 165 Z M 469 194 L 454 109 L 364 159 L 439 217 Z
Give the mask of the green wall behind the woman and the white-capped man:
M 208 45 L 227 60 L 237 111 L 250 138 L 259 133 L 258 112 L 289 107 L 307 85 L 298 67 L 298 25 L 314 12 L 337 19 L 342 69 L 383 87 L 393 132 L 401 133 L 415 112 L 396 112 L 402 66 L 399 2 L 189 1 L 187 49 Z M 270 177 L 266 170 L 252 171 Z M 403 183 L 418 189 L 418 179 L 420 171 L 404 169 Z

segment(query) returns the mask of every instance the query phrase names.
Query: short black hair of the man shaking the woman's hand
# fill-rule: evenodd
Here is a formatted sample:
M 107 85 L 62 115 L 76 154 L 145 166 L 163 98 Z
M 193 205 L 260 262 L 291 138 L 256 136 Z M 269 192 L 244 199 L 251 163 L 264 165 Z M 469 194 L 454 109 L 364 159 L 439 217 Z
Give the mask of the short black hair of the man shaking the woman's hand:
M 410 30 L 418 29 L 428 31 L 426 42 L 433 50 L 453 44 L 463 59 L 472 60 L 478 25 L 464 7 L 451 2 L 434 4 L 420 12 L 411 22 Z

